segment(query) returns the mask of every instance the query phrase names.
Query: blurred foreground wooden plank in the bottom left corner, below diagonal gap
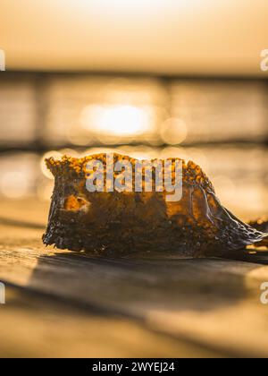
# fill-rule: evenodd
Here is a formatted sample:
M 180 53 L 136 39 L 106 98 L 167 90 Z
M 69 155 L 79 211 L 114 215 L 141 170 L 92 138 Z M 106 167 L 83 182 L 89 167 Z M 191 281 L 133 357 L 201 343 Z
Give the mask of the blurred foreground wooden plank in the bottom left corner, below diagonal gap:
M 159 334 L 137 320 L 7 288 L 0 307 L 0 357 L 221 357 Z

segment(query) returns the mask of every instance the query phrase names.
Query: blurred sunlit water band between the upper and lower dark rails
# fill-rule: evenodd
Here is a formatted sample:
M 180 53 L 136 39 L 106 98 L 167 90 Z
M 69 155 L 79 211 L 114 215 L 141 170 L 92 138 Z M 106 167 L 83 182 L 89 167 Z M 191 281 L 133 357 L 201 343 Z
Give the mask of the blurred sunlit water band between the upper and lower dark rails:
M 266 81 L 4 75 L 0 145 L 267 139 Z

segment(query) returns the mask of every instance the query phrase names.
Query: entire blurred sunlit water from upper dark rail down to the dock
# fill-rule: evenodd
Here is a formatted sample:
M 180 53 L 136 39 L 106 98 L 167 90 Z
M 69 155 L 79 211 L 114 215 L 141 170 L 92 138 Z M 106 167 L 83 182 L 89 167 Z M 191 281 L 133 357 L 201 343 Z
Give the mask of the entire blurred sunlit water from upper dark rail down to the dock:
M 113 150 L 135 158 L 194 160 L 229 209 L 243 218 L 267 214 L 266 81 L 3 77 L 2 197 L 48 201 L 53 179 L 45 157 Z

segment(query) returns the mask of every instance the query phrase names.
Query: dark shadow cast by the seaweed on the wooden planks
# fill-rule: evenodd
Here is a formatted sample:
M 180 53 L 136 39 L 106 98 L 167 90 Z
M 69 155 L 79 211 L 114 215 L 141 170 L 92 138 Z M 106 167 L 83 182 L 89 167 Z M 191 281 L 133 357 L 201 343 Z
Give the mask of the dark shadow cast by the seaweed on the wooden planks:
M 234 259 L 101 258 L 76 252 L 41 255 L 29 280 L 78 303 L 144 317 L 147 312 L 206 312 L 254 298 L 247 275 L 259 261 Z M 254 260 L 253 262 L 244 262 Z M 267 262 L 267 259 L 266 259 Z M 268 276 L 267 276 L 268 277 Z M 256 286 L 257 287 L 257 286 Z

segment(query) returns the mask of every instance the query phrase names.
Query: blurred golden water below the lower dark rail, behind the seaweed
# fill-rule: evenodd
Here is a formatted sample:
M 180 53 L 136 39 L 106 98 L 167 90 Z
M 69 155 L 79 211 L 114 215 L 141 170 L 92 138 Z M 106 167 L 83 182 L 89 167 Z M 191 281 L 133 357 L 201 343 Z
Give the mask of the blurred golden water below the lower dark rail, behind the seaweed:
M 46 153 L 60 157 L 87 155 L 104 148 L 78 152 L 60 150 Z M 217 146 L 203 148 L 136 147 L 109 148 L 136 158 L 178 157 L 194 160 L 212 180 L 222 203 L 245 219 L 258 218 L 268 212 L 268 150 L 258 147 Z M 36 153 L 11 153 L 0 157 L 0 195 L 10 199 L 36 196 L 49 201 L 53 190 L 53 177 L 46 170 L 44 155 Z

